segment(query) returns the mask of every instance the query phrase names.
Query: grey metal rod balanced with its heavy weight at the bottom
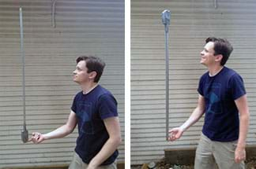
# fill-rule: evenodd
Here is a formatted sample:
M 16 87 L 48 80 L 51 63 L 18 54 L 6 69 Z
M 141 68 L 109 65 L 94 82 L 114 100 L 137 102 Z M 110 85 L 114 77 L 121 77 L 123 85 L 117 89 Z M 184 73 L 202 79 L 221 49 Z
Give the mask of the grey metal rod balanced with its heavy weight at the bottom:
M 22 9 L 20 8 L 20 31 L 21 31 L 21 58 L 22 58 L 22 100 L 23 100 L 23 130 L 21 131 L 21 140 L 28 141 L 28 130 L 26 128 L 26 98 L 25 98 L 25 61 L 24 61 L 24 47 L 23 47 L 23 23 L 22 23 Z

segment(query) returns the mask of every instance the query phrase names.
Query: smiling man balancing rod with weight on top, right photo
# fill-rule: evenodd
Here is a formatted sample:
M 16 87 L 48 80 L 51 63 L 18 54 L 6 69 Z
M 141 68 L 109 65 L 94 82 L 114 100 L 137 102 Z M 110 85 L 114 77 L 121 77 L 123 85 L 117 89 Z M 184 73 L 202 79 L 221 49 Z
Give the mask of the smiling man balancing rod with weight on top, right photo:
M 232 46 L 226 39 L 210 37 L 201 51 L 208 72 L 198 86 L 198 106 L 180 127 L 169 130 L 169 140 L 179 139 L 205 113 L 194 168 L 244 168 L 249 110 L 243 79 L 224 66 Z

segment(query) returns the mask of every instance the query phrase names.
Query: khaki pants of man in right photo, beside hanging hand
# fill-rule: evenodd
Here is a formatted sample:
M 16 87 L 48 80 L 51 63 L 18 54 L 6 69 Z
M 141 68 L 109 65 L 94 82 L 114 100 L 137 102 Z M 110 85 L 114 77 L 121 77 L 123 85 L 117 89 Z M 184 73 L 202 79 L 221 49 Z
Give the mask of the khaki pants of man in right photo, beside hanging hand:
M 244 169 L 244 162 L 235 163 L 236 142 L 211 141 L 204 134 L 201 134 L 194 160 L 194 168 Z

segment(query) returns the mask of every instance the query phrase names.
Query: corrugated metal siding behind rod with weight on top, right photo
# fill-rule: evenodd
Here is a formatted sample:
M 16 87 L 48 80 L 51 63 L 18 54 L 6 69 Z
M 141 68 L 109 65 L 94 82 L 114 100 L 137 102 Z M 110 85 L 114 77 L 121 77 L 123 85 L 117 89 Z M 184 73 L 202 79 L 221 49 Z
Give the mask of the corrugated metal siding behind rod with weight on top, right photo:
M 179 141 L 165 140 L 165 50 L 161 12 L 171 10 L 170 128 L 181 125 L 198 101 L 199 64 L 205 38 L 228 39 L 234 51 L 227 66 L 243 76 L 250 105 L 248 144 L 255 144 L 256 2 L 131 0 L 131 164 L 164 157 L 164 149 L 195 147 L 203 118 Z

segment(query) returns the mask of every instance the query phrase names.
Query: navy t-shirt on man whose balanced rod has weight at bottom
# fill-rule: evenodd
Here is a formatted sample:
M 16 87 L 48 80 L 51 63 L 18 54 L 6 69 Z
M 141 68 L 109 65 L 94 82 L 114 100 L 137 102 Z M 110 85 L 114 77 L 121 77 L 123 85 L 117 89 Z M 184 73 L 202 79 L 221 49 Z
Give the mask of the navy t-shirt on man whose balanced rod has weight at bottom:
M 79 134 L 75 152 L 89 163 L 109 138 L 104 119 L 118 116 L 117 102 L 108 90 L 98 85 L 88 94 L 79 92 L 71 109 L 77 116 Z M 101 165 L 113 163 L 118 155 L 118 150 L 115 150 Z

